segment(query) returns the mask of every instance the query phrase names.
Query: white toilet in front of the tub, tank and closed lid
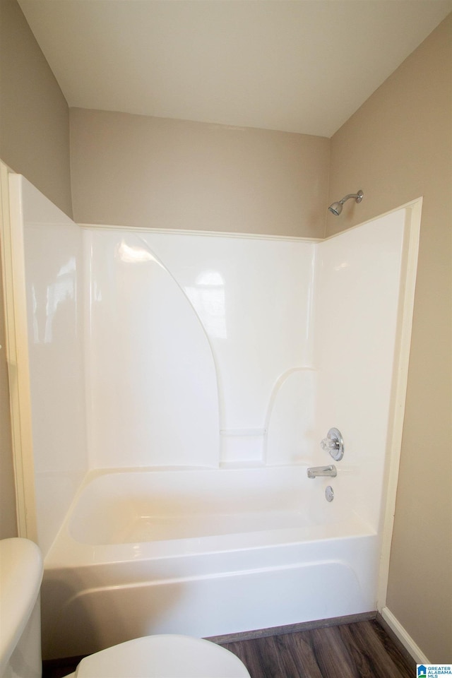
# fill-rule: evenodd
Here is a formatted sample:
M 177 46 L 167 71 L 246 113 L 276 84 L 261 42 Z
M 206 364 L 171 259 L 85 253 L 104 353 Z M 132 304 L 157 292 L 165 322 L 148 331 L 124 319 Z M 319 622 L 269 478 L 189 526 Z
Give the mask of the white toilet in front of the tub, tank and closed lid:
M 41 678 L 40 549 L 0 540 L 0 678 Z M 229 650 L 202 638 L 135 638 L 81 660 L 66 678 L 250 678 Z

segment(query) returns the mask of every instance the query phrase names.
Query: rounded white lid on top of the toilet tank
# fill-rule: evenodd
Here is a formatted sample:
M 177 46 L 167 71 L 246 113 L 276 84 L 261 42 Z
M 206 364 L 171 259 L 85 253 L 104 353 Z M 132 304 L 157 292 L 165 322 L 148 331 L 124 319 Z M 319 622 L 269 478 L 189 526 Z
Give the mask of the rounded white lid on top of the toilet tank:
M 42 581 L 37 545 L 22 537 L 0 540 L 0 675 L 30 618 Z

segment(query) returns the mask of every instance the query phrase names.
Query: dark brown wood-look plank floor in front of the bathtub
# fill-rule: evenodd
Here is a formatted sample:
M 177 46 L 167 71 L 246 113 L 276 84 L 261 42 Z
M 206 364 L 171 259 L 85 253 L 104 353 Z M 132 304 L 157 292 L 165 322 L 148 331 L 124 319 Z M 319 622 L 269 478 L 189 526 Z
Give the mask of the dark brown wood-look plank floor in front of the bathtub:
M 251 678 L 413 678 L 414 660 L 376 619 L 220 643 Z M 77 660 L 44 662 L 43 678 L 61 678 Z M 184 678 L 184 677 L 180 677 Z

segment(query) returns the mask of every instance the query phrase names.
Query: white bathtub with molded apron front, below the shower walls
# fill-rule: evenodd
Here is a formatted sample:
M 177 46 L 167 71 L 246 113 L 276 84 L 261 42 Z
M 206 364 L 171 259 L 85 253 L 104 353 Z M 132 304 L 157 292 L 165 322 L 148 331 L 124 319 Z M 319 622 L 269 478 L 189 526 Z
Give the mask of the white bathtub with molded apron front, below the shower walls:
M 45 558 L 43 657 L 376 609 L 377 535 L 340 489 L 302 465 L 90 472 Z

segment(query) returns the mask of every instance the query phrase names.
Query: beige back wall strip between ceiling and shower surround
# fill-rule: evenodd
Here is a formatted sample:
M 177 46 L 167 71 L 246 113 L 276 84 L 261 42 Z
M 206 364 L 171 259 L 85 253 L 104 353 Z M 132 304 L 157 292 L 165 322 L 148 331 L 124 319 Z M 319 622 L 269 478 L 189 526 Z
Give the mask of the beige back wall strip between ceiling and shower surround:
M 323 237 L 329 140 L 71 109 L 77 222 Z

